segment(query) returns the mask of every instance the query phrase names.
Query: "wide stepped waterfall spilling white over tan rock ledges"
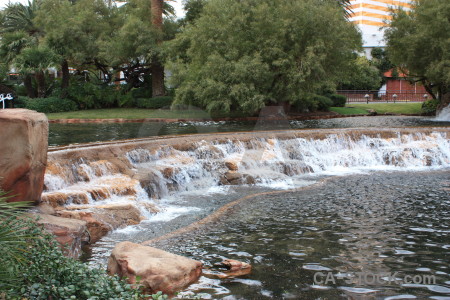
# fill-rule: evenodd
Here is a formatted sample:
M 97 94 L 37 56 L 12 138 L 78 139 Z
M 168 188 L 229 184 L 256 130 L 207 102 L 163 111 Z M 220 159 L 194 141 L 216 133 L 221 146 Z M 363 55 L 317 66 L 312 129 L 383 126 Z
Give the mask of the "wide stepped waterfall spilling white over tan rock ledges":
M 158 211 L 158 199 L 179 192 L 224 185 L 294 188 L 298 180 L 311 174 L 450 167 L 445 130 L 410 130 L 389 137 L 300 132 L 303 136 L 256 137 L 249 133 L 245 139 L 213 136 L 192 137 L 191 141 L 181 137 L 129 143 L 121 146 L 121 151 L 109 145 L 61 150 L 49 154 L 42 200 L 69 216 L 131 209 L 123 217 L 125 221 L 110 224 L 116 228 L 129 224 L 130 219 L 139 223 L 151 218 Z M 114 215 L 112 219 L 118 218 Z

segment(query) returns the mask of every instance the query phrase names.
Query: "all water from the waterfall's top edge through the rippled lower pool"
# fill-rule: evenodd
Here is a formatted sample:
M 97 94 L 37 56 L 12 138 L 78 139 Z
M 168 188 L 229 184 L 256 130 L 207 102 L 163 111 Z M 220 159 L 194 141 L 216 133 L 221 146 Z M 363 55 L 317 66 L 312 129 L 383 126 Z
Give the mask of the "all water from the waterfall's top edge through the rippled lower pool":
M 172 232 L 154 246 L 202 260 L 206 268 L 225 258 L 253 266 L 250 275 L 228 279 L 206 270 L 179 297 L 450 296 L 447 131 L 328 132 L 192 136 L 188 143 L 186 137 L 131 141 L 121 144 L 124 151 L 110 145 L 53 151 L 43 197 L 68 195 L 58 205 L 72 210 L 85 209 L 74 199 L 87 199 L 89 211 L 120 201 L 141 212 L 148 204 L 161 210 L 94 244 L 85 257 L 93 265 L 104 267 L 118 241 L 143 242 Z M 239 174 L 236 182 L 227 177 L 230 172 Z M 304 189 L 289 192 L 299 187 Z M 242 197 L 248 199 L 217 213 Z M 211 214 L 213 223 L 173 234 Z M 390 281 L 372 284 L 358 279 L 359 272 L 383 273 Z M 436 281 L 401 282 L 422 274 Z M 334 280 L 321 281 L 326 276 Z

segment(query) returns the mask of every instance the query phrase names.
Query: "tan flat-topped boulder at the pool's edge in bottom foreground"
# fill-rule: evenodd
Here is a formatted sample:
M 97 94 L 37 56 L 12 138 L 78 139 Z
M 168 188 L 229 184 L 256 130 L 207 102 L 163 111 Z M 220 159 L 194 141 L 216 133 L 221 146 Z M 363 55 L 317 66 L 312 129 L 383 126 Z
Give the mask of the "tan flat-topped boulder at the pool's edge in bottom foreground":
M 202 263 L 156 248 L 122 242 L 109 257 L 108 273 L 126 277 L 132 284 L 139 276 L 145 291 L 173 295 L 200 277 Z

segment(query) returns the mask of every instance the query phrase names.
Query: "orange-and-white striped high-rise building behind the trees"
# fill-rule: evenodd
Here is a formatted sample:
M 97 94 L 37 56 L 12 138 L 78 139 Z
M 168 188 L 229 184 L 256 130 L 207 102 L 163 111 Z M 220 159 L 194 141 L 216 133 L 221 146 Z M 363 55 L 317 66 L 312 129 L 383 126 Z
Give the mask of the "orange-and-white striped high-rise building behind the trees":
M 370 57 L 370 51 L 376 47 L 385 47 L 384 28 L 390 19 L 391 8 L 409 10 L 412 0 L 352 0 L 350 21 L 357 24 L 363 37 L 364 51 Z

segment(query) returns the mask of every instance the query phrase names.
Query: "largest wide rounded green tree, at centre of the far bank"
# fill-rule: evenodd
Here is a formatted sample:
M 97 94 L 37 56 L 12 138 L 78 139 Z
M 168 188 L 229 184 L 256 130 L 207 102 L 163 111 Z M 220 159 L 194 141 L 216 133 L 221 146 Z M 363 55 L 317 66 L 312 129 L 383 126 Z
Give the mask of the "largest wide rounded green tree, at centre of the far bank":
M 210 0 L 171 44 L 175 105 L 208 111 L 258 111 L 265 105 L 309 108 L 335 88 L 361 37 L 335 2 Z M 180 55 L 184 55 L 181 53 Z

